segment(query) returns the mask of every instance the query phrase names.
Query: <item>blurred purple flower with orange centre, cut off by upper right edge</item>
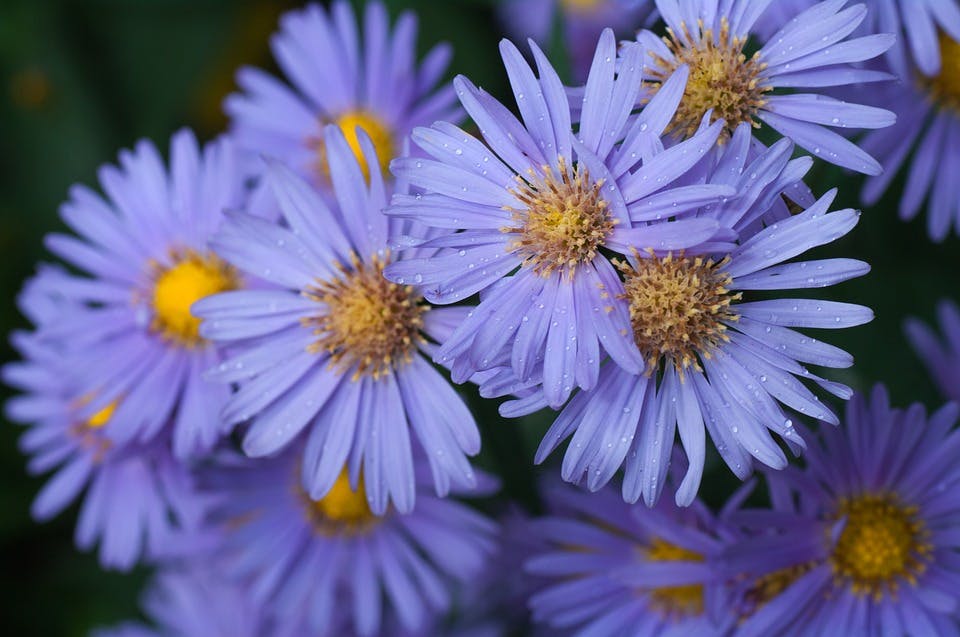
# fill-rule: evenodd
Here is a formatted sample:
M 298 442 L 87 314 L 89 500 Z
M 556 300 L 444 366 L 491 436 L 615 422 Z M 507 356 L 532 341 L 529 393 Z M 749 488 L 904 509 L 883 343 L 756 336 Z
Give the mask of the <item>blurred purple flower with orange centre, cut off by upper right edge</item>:
M 885 170 L 867 180 L 864 203 L 879 201 L 903 169 L 900 217 L 913 219 L 926 202 L 927 232 L 934 241 L 945 239 L 951 226 L 960 232 L 960 184 L 951 178 L 960 171 L 960 39 L 941 31 L 938 42 L 939 71 L 927 76 L 912 67 L 899 84 L 880 87 L 877 103 L 897 112 L 897 124 L 861 142 Z

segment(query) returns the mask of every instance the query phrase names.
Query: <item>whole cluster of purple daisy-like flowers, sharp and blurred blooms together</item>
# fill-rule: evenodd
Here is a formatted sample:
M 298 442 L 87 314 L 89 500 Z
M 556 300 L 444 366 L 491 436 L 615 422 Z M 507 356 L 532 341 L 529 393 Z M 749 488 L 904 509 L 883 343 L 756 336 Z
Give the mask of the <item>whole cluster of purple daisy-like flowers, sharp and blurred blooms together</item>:
M 82 493 L 77 545 L 157 569 L 101 634 L 956 634 L 957 408 L 855 393 L 805 330 L 873 318 L 817 298 L 870 270 L 818 160 L 960 227 L 960 8 L 845 4 L 511 3 L 574 79 L 503 40 L 507 100 L 411 13 L 311 5 L 222 137 L 72 189 L 3 378 L 35 517 Z M 960 399 L 941 324 L 908 337 Z M 553 412 L 524 462 L 559 467 L 475 468 L 513 426 L 477 391 Z M 711 508 L 714 451 L 746 482 Z

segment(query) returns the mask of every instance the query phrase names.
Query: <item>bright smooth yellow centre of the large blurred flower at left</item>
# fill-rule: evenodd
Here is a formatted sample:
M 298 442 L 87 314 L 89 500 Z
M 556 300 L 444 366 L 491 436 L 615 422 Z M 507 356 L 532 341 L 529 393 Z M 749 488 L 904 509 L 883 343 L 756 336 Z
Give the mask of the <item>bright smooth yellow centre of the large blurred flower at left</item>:
M 190 307 L 200 299 L 239 287 L 237 271 L 212 253 L 194 250 L 173 254 L 174 265 L 154 264 L 153 321 L 150 327 L 183 347 L 205 343 L 200 337 L 200 319 Z

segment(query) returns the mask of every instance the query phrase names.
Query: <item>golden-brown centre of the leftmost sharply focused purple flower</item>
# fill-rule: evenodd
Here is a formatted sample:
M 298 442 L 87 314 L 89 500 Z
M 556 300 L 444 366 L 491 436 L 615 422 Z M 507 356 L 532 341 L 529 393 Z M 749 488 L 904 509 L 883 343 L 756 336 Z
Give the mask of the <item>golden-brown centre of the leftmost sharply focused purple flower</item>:
M 419 343 L 423 313 L 413 286 L 383 277 L 386 259 L 374 255 L 370 263 L 351 256 L 352 268 L 338 265 L 341 276 L 321 281 L 304 295 L 325 306 L 304 324 L 317 335 L 310 351 L 327 352 L 341 372 L 354 368 L 353 380 L 374 379 L 409 363 Z

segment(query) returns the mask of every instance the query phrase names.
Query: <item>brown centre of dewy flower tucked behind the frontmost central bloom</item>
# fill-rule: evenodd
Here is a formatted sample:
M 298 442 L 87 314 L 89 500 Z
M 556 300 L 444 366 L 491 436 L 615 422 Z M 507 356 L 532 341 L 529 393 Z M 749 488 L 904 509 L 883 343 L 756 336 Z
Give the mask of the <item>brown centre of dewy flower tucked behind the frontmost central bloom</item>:
M 624 275 L 624 294 L 630 304 L 633 337 L 649 364 L 648 373 L 666 358 L 677 371 L 700 368 L 698 357 L 728 339 L 724 321 L 736 320 L 730 304 L 740 298 L 731 294 L 724 259 L 714 262 L 702 257 L 668 254 L 648 257 L 634 252 L 633 266 L 616 261 Z

